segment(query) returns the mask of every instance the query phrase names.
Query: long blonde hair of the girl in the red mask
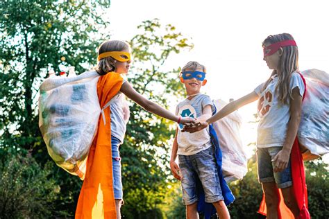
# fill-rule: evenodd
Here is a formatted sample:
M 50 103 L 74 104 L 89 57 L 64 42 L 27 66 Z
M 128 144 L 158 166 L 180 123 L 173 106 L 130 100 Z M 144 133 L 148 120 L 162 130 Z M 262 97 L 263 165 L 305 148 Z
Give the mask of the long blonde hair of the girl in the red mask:
M 294 40 L 294 37 L 289 33 L 281 33 L 278 35 L 269 35 L 262 46 L 265 44 L 274 44 L 283 40 Z M 276 94 L 278 94 L 278 99 L 282 104 L 288 103 L 288 97 L 292 98 L 292 94 L 289 91 L 290 78 L 292 73 L 298 71 L 298 48 L 297 46 L 283 46 L 282 55 L 280 56 L 278 69 L 273 70 L 271 76 L 264 83 L 262 90 L 267 88 L 269 82 L 272 80 L 272 76 L 278 76 L 278 84 L 276 85 Z

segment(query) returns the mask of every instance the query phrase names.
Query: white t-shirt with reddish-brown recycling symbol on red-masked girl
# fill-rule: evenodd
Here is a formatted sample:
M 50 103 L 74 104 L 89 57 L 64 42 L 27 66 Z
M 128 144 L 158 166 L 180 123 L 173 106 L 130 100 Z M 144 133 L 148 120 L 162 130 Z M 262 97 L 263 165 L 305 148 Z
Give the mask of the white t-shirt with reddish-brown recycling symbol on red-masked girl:
M 290 119 L 289 99 L 288 104 L 282 104 L 275 93 L 278 77 L 273 78 L 264 91 L 264 83 L 255 88 L 256 94 L 260 97 L 258 100 L 258 148 L 282 147 L 287 134 L 288 121 Z M 290 78 L 289 92 L 292 89 L 299 88 L 299 94 L 303 96 L 305 85 L 299 73 L 292 73 Z

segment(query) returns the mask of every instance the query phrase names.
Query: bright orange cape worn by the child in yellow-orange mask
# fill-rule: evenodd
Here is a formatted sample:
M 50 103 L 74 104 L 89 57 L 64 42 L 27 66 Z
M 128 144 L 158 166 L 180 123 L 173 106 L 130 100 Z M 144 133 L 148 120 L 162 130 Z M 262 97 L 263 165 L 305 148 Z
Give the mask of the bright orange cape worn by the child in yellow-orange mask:
M 116 72 L 99 77 L 97 94 L 101 109 L 121 89 L 123 78 Z M 76 207 L 76 218 L 117 218 L 112 177 L 110 107 L 99 116 L 99 127 L 87 158 L 85 180 Z

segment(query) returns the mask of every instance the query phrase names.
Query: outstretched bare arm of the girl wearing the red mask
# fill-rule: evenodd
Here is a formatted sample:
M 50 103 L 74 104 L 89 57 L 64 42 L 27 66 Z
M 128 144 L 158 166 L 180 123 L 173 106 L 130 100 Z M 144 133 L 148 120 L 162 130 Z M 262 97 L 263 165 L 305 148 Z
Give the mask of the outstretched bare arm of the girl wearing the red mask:
M 234 112 L 235 110 L 239 109 L 240 107 L 243 107 L 244 105 L 251 103 L 255 100 L 258 100 L 258 95 L 255 93 L 255 91 L 252 91 L 250 94 L 247 94 L 246 96 L 243 96 L 242 98 L 239 98 L 237 100 L 234 100 L 233 102 L 228 103 L 223 109 L 219 110 L 214 116 L 211 116 L 209 119 L 207 119 L 204 122 L 197 123 L 196 125 L 187 125 L 183 129 L 183 132 L 198 132 L 202 130 L 203 128 L 208 127 L 209 124 L 214 123 L 215 121 L 222 119 L 223 117 L 227 116 L 231 112 Z

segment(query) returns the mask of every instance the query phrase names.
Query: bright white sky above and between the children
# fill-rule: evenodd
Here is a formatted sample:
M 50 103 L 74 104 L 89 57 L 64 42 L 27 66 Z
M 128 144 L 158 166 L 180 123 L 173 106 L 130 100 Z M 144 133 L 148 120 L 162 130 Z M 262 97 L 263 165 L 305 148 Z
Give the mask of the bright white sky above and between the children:
M 202 2 L 202 3 L 201 3 Z M 329 1 L 146 1 L 112 0 L 108 16 L 115 39 L 130 40 L 137 26 L 158 18 L 172 24 L 194 49 L 172 55 L 169 69 L 196 60 L 207 67 L 208 84 L 203 92 L 212 98 L 239 98 L 264 82 L 271 70 L 262 60 L 262 41 L 268 35 L 290 33 L 299 50 L 299 68 L 329 72 Z M 242 137 L 255 141 L 255 103 L 239 109 L 244 118 Z

